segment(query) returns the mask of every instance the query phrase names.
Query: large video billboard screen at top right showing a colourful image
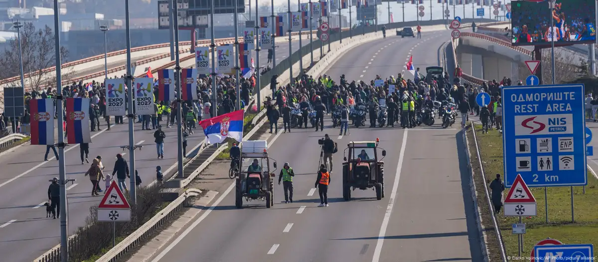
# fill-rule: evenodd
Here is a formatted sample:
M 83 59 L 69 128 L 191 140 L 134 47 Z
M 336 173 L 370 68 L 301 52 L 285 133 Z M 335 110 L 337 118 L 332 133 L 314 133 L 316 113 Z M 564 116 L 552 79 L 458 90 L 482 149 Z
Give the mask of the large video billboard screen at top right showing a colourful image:
M 596 42 L 596 0 L 557 0 L 554 8 L 550 2 L 511 2 L 512 45 Z

